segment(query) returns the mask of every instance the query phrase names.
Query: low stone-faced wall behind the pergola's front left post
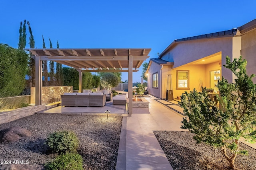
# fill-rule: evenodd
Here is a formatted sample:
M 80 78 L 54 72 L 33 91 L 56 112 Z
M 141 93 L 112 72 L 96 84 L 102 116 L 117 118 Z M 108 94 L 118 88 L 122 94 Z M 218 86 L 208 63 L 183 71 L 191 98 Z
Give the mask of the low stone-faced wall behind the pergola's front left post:
M 35 103 L 36 88 L 31 87 L 31 102 Z M 61 96 L 64 93 L 72 93 L 73 86 L 46 86 L 42 87 L 42 103 L 49 104 L 54 102 L 60 102 Z

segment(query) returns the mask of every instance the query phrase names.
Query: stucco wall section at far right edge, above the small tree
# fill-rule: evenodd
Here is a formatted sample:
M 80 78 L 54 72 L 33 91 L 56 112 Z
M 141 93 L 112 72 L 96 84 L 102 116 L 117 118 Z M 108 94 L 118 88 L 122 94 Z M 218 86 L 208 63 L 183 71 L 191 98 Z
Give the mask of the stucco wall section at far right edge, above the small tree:
M 247 62 L 248 75 L 256 74 L 256 29 L 241 35 L 241 55 Z M 256 83 L 256 78 L 253 78 Z

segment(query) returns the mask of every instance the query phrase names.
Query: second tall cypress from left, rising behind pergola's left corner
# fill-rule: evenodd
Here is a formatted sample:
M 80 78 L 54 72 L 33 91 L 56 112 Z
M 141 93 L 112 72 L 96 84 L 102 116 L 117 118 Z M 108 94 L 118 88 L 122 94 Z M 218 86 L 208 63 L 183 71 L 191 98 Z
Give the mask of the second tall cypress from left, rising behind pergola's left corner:
M 32 29 L 30 27 L 30 23 L 29 21 L 28 23 L 28 31 L 30 33 L 30 37 L 29 37 L 29 45 L 31 49 L 35 48 L 35 41 L 34 41 L 34 35 L 32 33 Z M 36 74 L 36 66 L 35 66 L 35 60 L 33 58 L 31 58 L 31 53 L 30 53 L 30 58 L 28 61 L 28 74 L 30 76 L 30 86 L 35 86 L 35 74 Z

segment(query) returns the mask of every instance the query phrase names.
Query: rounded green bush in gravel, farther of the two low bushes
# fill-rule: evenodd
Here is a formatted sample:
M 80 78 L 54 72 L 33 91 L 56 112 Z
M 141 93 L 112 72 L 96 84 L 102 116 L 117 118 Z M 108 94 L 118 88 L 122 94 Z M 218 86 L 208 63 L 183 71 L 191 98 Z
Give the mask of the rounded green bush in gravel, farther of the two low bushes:
M 76 152 L 79 140 L 72 131 L 61 131 L 50 134 L 46 143 L 54 152 Z

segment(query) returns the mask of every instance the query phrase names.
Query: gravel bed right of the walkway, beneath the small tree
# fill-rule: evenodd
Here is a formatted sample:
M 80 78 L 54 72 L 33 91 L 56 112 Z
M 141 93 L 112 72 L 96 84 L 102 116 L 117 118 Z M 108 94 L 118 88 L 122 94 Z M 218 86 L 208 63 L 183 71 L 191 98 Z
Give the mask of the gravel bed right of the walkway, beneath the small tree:
M 154 131 L 166 157 L 174 170 L 229 170 L 229 163 L 214 147 L 196 144 L 189 131 Z M 256 150 L 240 143 L 248 156 L 238 155 L 235 160 L 238 170 L 256 170 Z

